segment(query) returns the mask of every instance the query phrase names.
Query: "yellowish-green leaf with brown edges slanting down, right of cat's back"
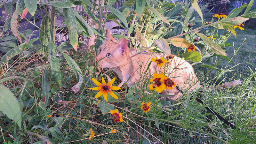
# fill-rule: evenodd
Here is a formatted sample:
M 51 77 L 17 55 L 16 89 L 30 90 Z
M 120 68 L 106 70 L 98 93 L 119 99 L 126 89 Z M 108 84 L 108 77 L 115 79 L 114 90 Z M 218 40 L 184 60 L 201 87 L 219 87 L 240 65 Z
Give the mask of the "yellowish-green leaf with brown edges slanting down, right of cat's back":
M 213 42 L 210 38 L 208 38 L 206 35 L 201 34 L 201 33 L 196 33 L 209 47 L 212 48 L 212 50 L 218 54 L 218 55 L 223 55 L 223 56 L 227 56 L 227 54 L 225 53 L 225 51 L 223 49 L 221 49 L 221 47 L 216 44 L 215 42 Z

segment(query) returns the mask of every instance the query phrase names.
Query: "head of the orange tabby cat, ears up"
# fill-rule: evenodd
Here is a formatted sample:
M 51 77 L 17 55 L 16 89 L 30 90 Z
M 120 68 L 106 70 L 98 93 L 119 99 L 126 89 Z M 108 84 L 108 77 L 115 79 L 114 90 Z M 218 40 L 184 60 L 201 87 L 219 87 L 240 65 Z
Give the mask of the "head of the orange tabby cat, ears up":
M 113 68 L 124 64 L 129 57 L 129 48 L 127 40 L 121 38 L 117 42 L 109 33 L 108 29 L 106 31 L 106 38 L 104 42 L 97 49 L 96 62 L 98 67 L 102 68 Z

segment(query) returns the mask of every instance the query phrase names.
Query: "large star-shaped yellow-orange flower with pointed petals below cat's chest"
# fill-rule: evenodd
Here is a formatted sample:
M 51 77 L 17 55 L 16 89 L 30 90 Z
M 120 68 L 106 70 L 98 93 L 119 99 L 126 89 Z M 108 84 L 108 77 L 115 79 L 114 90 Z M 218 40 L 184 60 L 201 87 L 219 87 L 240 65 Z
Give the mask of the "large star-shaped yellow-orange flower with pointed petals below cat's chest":
M 114 87 L 112 86 L 112 84 L 114 83 L 114 81 L 116 80 L 116 78 L 112 79 L 111 81 L 108 82 L 108 84 L 105 82 L 104 78 L 101 78 L 102 84 L 93 79 L 92 81 L 99 87 L 93 87 L 93 88 L 88 88 L 88 89 L 92 89 L 92 90 L 99 90 L 99 92 L 97 93 L 97 95 L 95 95 L 95 98 L 100 97 L 101 95 L 103 95 L 104 99 L 108 102 L 108 93 L 114 97 L 115 99 L 118 99 L 118 97 L 111 91 L 111 90 L 119 90 L 121 89 L 120 87 Z

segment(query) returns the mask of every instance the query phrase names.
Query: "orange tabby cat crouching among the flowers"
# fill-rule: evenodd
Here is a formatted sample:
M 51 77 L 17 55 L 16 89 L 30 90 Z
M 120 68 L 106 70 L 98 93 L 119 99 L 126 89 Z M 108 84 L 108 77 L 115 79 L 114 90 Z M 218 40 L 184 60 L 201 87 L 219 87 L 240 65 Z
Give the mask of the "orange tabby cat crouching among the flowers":
M 157 57 L 159 59 L 160 57 L 166 57 L 163 53 L 146 52 L 128 59 L 128 57 L 136 54 L 137 50 L 138 49 L 129 49 L 125 38 L 121 38 L 120 41 L 117 42 L 107 29 L 105 41 L 97 50 L 96 62 L 101 59 L 98 63 L 98 67 L 111 68 L 116 72 L 119 79 L 122 80 L 118 85 L 119 87 L 129 79 L 127 81 L 129 87 L 130 84 L 143 81 L 141 79 L 145 77 L 142 78 L 141 74 L 146 72 L 151 58 Z M 192 87 L 192 89 L 200 87 L 192 65 L 182 58 L 174 56 L 169 59 L 167 70 L 165 75 L 172 78 L 180 89 L 188 89 L 193 86 L 194 83 L 195 86 Z M 157 63 L 152 62 L 149 66 L 149 71 L 152 76 L 155 72 L 163 72 L 163 69 L 160 69 Z M 150 75 L 147 74 L 146 77 L 149 79 Z M 190 88 L 189 90 L 191 91 L 192 89 Z M 171 100 L 177 100 L 180 98 L 179 95 L 181 96 L 181 93 L 176 88 L 173 88 L 172 90 L 167 89 L 166 91 L 162 91 L 161 95 L 170 95 L 169 98 L 171 98 Z M 166 100 L 167 98 L 168 97 L 165 97 Z

